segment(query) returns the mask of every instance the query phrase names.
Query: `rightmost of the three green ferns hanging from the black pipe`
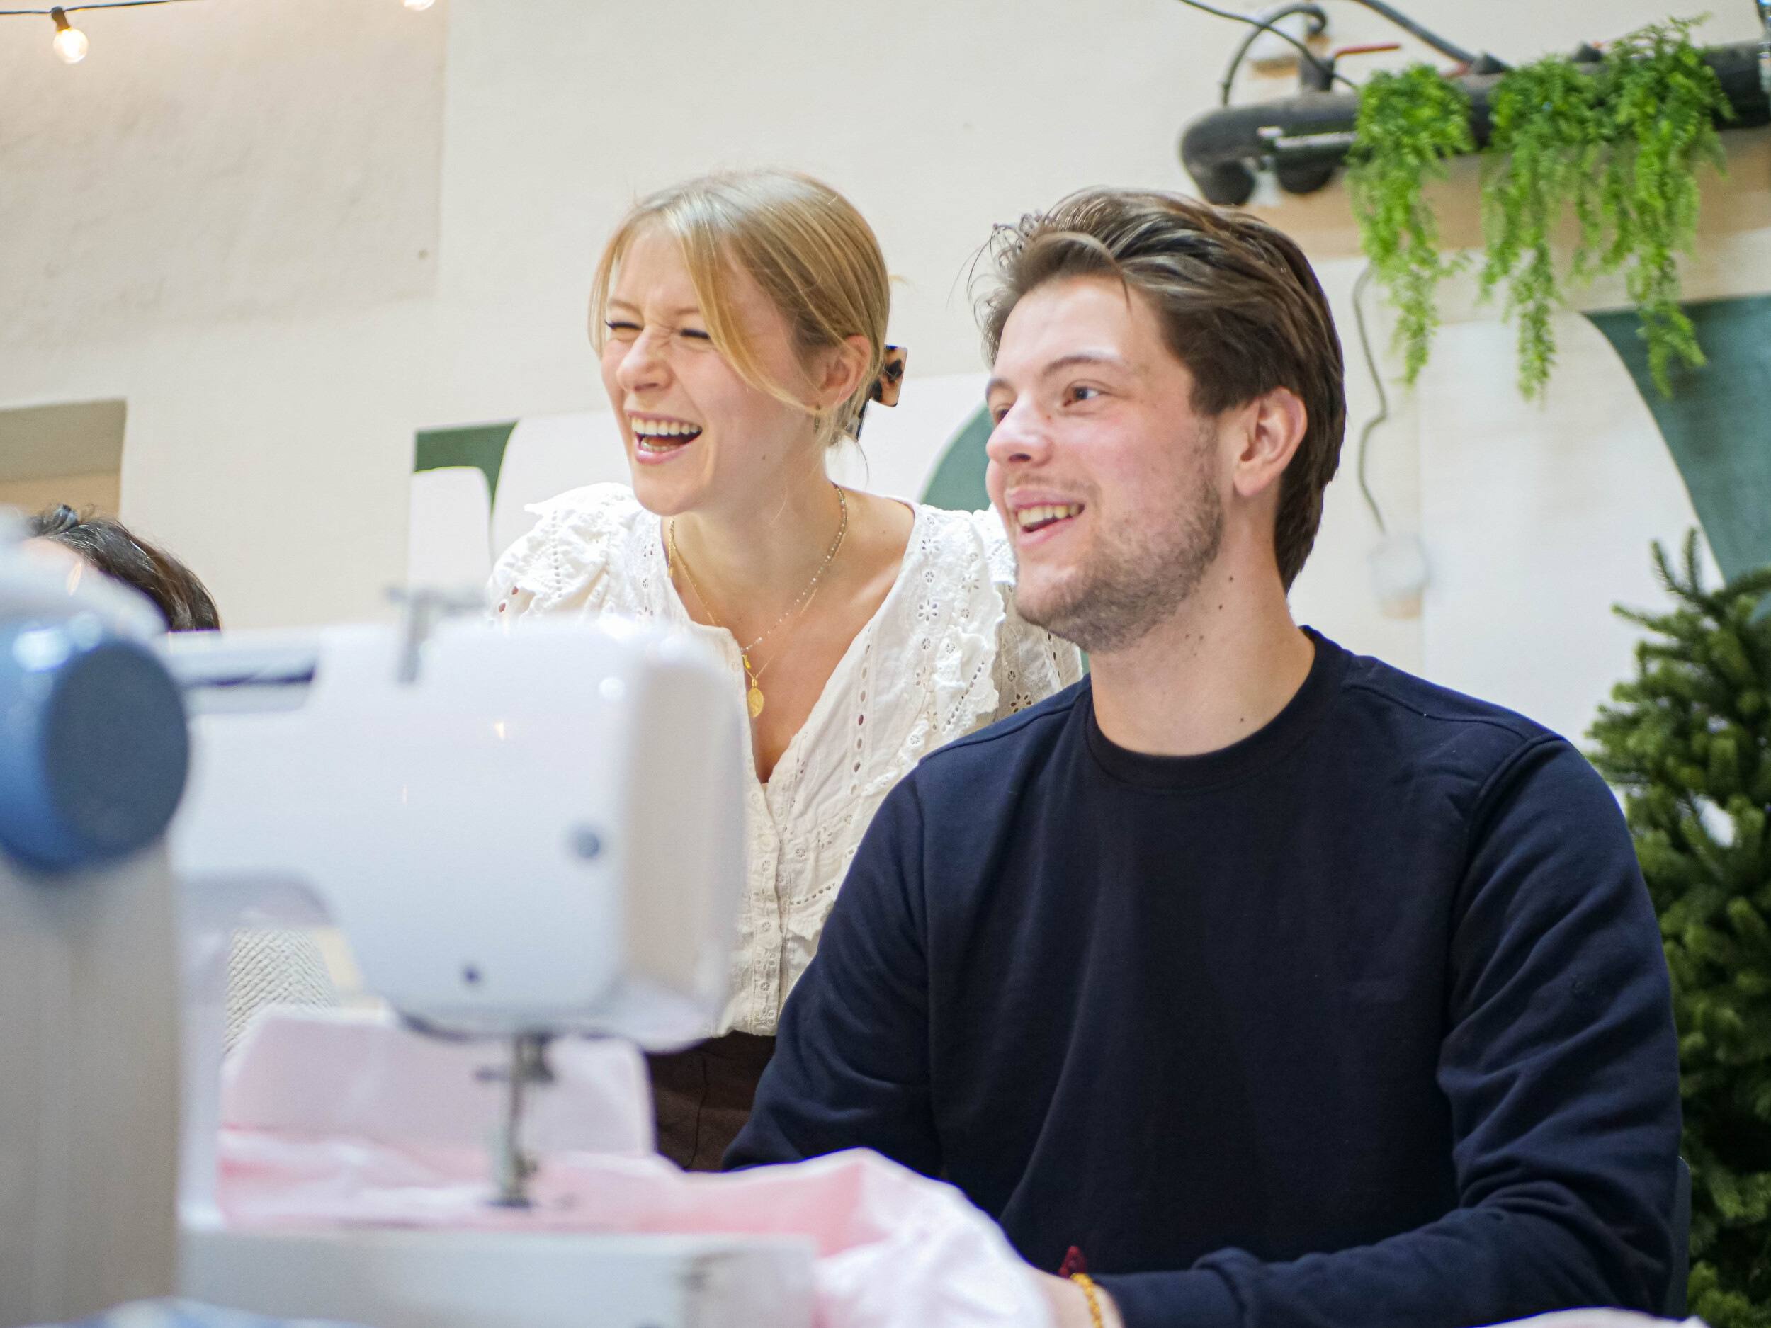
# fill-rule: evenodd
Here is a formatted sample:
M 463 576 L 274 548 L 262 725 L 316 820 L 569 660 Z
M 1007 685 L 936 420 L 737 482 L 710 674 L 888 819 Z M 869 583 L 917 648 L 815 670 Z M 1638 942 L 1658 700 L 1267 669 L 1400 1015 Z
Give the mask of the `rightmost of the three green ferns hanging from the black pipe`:
M 1624 269 L 1663 397 L 1672 395 L 1674 359 L 1704 365 L 1679 308 L 1679 255 L 1697 248 L 1698 166 L 1727 170 L 1716 115 L 1734 115 L 1716 71 L 1691 46 L 1695 25 L 1675 18 L 1629 34 L 1612 48 L 1601 76 L 1613 140 L 1601 188 L 1612 227 L 1605 266 Z

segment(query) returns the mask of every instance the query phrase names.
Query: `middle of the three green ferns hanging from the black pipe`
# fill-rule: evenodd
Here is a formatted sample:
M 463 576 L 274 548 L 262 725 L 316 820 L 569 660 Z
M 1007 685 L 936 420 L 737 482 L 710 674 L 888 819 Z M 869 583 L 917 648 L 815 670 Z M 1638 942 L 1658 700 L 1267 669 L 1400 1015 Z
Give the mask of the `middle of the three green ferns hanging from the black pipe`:
M 1493 136 L 1484 161 L 1482 294 L 1507 287 L 1505 317 L 1520 324 L 1520 393 L 1543 393 L 1555 367 L 1550 319 L 1562 305 L 1551 235 L 1573 207 L 1580 227 L 1574 280 L 1599 248 L 1605 117 L 1599 81 L 1560 57 L 1509 69 L 1489 92 Z

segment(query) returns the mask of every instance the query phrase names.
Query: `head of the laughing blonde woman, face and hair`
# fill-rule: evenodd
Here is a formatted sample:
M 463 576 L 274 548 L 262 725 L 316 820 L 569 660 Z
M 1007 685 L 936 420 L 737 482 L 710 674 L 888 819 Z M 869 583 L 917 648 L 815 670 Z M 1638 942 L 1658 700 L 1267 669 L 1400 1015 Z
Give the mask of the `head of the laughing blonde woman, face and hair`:
M 891 306 L 873 230 L 806 175 L 705 175 L 641 200 L 597 266 L 602 356 L 634 492 L 746 501 L 855 429 Z

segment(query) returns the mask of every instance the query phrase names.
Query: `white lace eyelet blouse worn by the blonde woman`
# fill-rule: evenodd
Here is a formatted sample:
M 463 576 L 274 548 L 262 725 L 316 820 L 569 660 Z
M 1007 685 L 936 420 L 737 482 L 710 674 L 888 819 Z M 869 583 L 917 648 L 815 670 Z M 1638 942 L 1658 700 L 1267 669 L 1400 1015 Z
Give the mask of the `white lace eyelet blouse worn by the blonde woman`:
M 494 616 L 618 613 L 694 632 L 731 671 L 730 632 L 689 618 L 659 517 L 625 485 L 530 508 L 538 521 L 492 572 Z M 1077 648 L 1015 613 L 1015 558 L 994 512 L 917 506 L 884 604 L 850 643 L 763 784 L 746 726 L 746 896 L 731 999 L 712 1034 L 772 1034 L 818 951 L 824 919 L 886 793 L 926 753 L 1082 676 Z

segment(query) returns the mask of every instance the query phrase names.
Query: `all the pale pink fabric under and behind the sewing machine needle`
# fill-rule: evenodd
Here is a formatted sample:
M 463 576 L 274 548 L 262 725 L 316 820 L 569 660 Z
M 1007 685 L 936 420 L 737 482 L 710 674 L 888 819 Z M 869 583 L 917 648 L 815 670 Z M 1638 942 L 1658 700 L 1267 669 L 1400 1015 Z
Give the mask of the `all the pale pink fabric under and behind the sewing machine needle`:
M 228 1061 L 218 1201 L 234 1227 L 439 1227 L 800 1236 L 818 1328 L 1048 1328 L 1031 1270 L 947 1185 L 875 1153 L 731 1176 L 645 1151 L 645 1064 L 622 1043 L 560 1043 L 530 1121 L 537 1206 L 491 1208 L 485 1137 L 498 1050 L 386 1020 L 264 1011 Z M 590 1151 L 597 1149 L 597 1151 Z M 1567 1310 L 1500 1328 L 1670 1328 Z M 1704 1328 L 1688 1319 L 1686 1328 Z

